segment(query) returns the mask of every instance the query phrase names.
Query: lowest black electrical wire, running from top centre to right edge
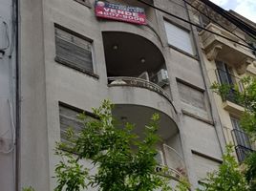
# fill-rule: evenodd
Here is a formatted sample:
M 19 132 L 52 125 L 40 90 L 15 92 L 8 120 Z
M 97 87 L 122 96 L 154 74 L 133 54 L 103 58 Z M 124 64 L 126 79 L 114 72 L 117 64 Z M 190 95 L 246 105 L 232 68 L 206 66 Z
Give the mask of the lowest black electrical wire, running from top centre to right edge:
M 236 40 L 233 40 L 233 39 L 231 39 L 231 38 L 228 38 L 228 37 L 226 37 L 226 36 L 224 36 L 224 35 L 222 35 L 222 34 L 220 34 L 220 33 L 218 33 L 218 32 L 212 32 L 212 31 L 210 31 L 210 30 L 207 30 L 207 29 L 203 28 L 202 26 L 200 26 L 200 25 L 198 25 L 198 24 L 195 24 L 195 23 L 192 23 L 192 22 L 190 22 L 190 21 L 187 21 L 187 20 L 181 18 L 180 16 L 177 16 L 177 15 L 175 15 L 175 14 L 172 14 L 172 13 L 170 13 L 170 12 L 168 12 L 168 11 L 164 11 L 164 10 L 162 10 L 162 9 L 156 7 L 156 6 L 153 6 L 153 5 L 151 5 L 151 4 L 147 3 L 147 2 L 144 2 L 144 1 L 142 1 L 142 0 L 138 0 L 138 1 L 139 1 L 140 3 L 142 3 L 142 4 L 144 4 L 144 5 L 147 5 L 147 6 L 151 7 L 151 8 L 153 8 L 153 9 L 155 9 L 155 10 L 161 11 L 161 12 L 166 13 L 166 14 L 172 16 L 172 17 L 175 17 L 175 18 L 177 18 L 177 19 L 179 19 L 179 20 L 181 20 L 181 21 L 183 21 L 183 22 L 185 22 L 185 23 L 188 23 L 188 24 L 190 24 L 190 25 L 193 25 L 193 26 L 195 26 L 195 27 L 198 27 L 199 29 L 202 29 L 202 30 L 205 31 L 205 32 L 211 32 L 211 33 L 213 33 L 213 34 L 215 34 L 215 35 L 218 35 L 218 36 L 220 36 L 220 37 L 222 37 L 222 38 L 224 38 L 224 39 L 226 39 L 226 40 L 228 40 L 228 41 L 230 41 L 230 42 L 233 42 L 233 43 L 235 43 L 235 44 L 241 45 L 241 46 L 243 46 L 243 47 L 245 47 L 245 48 L 247 48 L 247 49 L 250 49 L 250 50 L 252 50 L 252 51 L 256 51 L 255 48 L 250 47 L 250 46 L 247 46 L 247 45 L 245 45 L 245 44 L 243 44 L 243 43 L 237 42 Z

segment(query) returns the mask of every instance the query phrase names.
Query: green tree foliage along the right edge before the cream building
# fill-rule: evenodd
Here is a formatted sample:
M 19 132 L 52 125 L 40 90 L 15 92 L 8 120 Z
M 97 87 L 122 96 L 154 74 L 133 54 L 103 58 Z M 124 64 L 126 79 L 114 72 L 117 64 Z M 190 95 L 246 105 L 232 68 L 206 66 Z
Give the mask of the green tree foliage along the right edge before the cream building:
M 215 93 L 226 99 L 230 91 L 234 95 L 235 101 L 245 107 L 245 112 L 241 117 L 241 127 L 251 138 L 256 141 L 256 78 L 246 76 L 240 81 L 243 90 L 239 90 L 237 85 L 229 86 L 215 82 L 212 89 Z M 253 152 L 245 159 L 245 180 L 249 188 L 247 190 L 256 190 L 256 152 Z

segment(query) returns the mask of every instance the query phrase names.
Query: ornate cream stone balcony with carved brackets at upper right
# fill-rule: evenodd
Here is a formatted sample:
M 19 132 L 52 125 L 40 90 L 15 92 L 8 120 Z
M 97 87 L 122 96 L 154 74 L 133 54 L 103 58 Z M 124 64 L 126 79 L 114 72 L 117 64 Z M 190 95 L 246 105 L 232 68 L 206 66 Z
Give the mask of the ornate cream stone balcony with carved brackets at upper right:
M 240 42 L 236 36 L 212 23 L 208 24 L 206 29 Z M 254 62 L 255 56 L 245 47 L 210 32 L 200 32 L 200 36 L 203 42 L 203 50 L 210 61 L 216 58 L 224 60 L 232 65 L 238 74 L 245 74 L 247 66 Z

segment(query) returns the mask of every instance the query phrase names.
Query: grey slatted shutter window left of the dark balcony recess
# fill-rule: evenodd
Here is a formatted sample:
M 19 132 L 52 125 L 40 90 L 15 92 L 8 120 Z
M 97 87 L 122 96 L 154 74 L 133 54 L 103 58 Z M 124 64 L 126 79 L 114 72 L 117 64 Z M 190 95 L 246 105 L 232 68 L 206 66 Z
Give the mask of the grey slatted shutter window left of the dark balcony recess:
M 94 73 L 91 41 L 55 26 L 55 47 L 57 62 L 84 73 Z

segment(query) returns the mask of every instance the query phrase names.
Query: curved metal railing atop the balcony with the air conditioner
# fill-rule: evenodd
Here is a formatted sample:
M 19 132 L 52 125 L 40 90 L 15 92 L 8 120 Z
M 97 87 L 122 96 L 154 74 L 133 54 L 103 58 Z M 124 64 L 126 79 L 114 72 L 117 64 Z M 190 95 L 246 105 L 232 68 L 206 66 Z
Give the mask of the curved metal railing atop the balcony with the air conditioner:
M 108 83 L 109 86 L 134 86 L 145 88 L 164 96 L 168 101 L 171 102 L 170 96 L 159 85 L 145 79 L 129 76 L 115 76 L 108 77 Z

